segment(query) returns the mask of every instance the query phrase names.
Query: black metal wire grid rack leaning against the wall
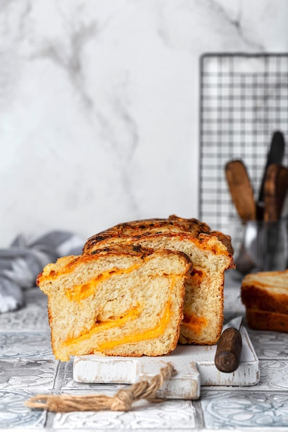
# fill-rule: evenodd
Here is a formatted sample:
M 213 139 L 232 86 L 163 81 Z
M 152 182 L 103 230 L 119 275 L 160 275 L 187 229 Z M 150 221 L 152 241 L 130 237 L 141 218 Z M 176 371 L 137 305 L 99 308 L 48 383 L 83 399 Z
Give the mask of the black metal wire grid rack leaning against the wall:
M 231 233 L 236 210 L 224 166 L 242 159 L 256 196 L 273 132 L 288 140 L 288 53 L 207 54 L 200 59 L 199 217 Z M 288 155 L 285 153 L 284 164 Z M 235 234 L 235 233 L 234 233 Z

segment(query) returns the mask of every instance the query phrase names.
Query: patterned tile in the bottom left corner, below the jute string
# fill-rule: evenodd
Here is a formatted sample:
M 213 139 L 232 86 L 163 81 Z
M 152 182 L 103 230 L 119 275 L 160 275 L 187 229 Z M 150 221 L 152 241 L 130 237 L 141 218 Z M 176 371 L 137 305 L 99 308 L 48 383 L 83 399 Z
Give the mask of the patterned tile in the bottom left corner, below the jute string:
M 28 391 L 0 391 L 0 430 L 44 428 L 46 411 L 31 410 L 24 404 L 33 395 Z

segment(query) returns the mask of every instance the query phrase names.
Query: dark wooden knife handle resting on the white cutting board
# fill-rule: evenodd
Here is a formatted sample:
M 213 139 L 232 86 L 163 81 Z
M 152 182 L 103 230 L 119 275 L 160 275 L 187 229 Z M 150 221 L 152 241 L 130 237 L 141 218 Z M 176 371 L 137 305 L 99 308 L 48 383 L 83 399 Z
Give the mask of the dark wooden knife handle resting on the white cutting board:
M 242 337 L 237 328 L 229 327 L 223 331 L 215 353 L 215 366 L 220 372 L 236 371 L 240 363 Z

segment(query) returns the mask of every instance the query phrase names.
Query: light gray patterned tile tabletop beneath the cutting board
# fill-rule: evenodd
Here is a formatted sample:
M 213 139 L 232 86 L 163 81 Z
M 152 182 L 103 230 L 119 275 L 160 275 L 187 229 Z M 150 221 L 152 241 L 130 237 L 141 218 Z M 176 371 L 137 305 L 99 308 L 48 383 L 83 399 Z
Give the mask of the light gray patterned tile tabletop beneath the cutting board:
M 225 317 L 244 314 L 239 281 L 227 273 Z M 0 431 L 288 431 L 288 334 L 247 328 L 260 360 L 251 387 L 204 387 L 195 401 L 137 402 L 123 412 L 46 413 L 24 402 L 38 393 L 113 395 L 120 384 L 80 384 L 73 362 L 52 355 L 46 296 L 26 292 L 26 306 L 0 315 Z M 245 322 L 244 322 L 245 324 Z

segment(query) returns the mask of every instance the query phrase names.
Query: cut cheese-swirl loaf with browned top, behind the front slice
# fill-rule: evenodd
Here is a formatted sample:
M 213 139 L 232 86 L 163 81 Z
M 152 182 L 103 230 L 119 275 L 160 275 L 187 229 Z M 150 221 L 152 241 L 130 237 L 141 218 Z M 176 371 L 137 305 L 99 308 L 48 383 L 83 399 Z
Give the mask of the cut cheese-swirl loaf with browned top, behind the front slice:
M 193 272 L 186 281 L 180 343 L 218 342 L 224 317 L 224 271 L 235 267 L 229 236 L 211 231 L 198 219 L 172 215 L 168 219 L 146 219 L 109 228 L 90 237 L 84 245 L 84 253 L 90 254 L 111 244 L 184 252 L 191 259 Z

